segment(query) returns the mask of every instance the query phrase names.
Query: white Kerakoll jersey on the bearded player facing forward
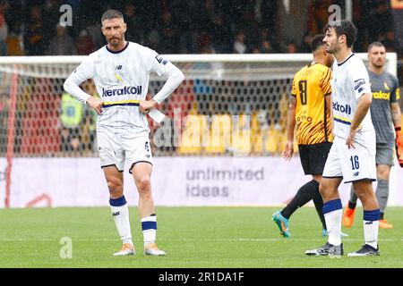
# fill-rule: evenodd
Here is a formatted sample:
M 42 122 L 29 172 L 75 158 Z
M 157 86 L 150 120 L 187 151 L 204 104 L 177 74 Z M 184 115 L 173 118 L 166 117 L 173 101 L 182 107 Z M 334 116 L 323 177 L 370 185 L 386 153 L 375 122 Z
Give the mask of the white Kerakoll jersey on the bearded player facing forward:
M 99 96 L 104 101 L 98 127 L 149 132 L 149 124 L 146 116 L 140 112 L 139 101 L 146 98 L 152 71 L 168 77 L 178 69 L 154 50 L 127 42 L 124 49 L 118 52 L 103 46 L 90 54 L 66 82 L 94 80 Z M 73 92 L 73 96 L 82 102 L 88 98 L 80 96 L 78 92 Z

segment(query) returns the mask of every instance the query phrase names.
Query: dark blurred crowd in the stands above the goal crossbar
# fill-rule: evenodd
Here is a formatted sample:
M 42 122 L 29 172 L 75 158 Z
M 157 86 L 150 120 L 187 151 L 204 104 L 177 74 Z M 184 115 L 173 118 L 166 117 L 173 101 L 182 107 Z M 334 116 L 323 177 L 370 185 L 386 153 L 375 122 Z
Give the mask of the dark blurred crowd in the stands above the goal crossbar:
M 0 0 L 0 55 L 89 55 L 105 45 L 100 17 L 108 8 L 124 13 L 127 40 L 160 54 L 309 53 L 309 39 L 322 32 L 330 4 L 344 9 L 345 1 L 308 2 L 304 33 L 289 38 L 280 27 L 290 13 L 284 8 L 290 1 L 283 0 Z M 380 40 L 400 53 L 390 1 L 353 3 L 356 51 Z M 72 26 L 59 24 L 63 4 L 73 8 Z

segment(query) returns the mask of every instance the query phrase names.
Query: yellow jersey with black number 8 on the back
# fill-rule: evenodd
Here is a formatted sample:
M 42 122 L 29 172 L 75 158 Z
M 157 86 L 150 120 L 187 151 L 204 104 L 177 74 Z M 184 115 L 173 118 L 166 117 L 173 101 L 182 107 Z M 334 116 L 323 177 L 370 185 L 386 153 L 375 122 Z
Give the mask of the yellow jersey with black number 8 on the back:
M 298 144 L 332 142 L 330 110 L 325 97 L 331 94 L 331 71 L 321 63 L 296 72 L 291 95 L 296 97 L 296 139 Z

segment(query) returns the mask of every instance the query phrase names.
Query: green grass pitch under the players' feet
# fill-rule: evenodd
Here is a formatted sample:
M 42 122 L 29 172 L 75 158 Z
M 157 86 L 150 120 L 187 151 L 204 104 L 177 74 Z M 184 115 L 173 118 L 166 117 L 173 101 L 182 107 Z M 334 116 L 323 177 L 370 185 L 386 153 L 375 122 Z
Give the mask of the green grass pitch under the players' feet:
M 0 267 L 403 267 L 403 207 L 389 207 L 392 230 L 380 230 L 380 257 L 347 257 L 363 244 L 362 209 L 343 231 L 341 258 L 306 257 L 322 245 L 313 207 L 291 217 L 292 238 L 283 239 L 271 221 L 274 207 L 157 207 L 159 247 L 167 257 L 145 257 L 137 208 L 130 207 L 137 254 L 113 257 L 121 244 L 108 207 L 0 210 Z M 73 257 L 61 258 L 61 239 L 72 240 Z

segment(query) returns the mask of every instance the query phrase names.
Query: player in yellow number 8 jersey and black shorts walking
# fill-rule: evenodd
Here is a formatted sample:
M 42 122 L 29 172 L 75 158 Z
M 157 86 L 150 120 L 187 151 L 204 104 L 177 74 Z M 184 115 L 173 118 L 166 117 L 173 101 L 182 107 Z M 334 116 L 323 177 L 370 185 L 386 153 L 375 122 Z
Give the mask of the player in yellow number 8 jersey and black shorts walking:
M 297 124 L 296 139 L 301 164 L 305 175 L 312 175 L 313 180 L 298 189 L 296 196 L 285 208 L 272 214 L 274 223 L 285 238 L 291 236 L 289 217 L 311 199 L 322 222 L 322 234 L 327 235 L 319 183 L 333 141 L 330 122 L 330 66 L 334 58 L 326 52 L 323 37 L 316 35 L 312 38 L 313 62 L 296 72 L 288 105 L 287 143 L 282 155 L 286 160 L 291 160 L 293 156 L 294 130 Z

